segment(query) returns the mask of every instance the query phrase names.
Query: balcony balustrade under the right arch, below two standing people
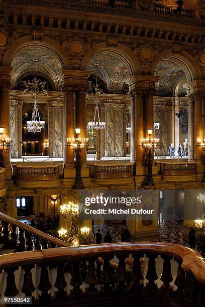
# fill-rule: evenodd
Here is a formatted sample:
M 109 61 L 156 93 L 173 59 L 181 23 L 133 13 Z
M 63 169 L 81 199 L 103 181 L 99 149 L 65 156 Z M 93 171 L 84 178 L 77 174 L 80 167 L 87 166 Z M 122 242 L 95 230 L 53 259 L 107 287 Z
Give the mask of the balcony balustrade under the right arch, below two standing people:
M 195 175 L 195 162 L 160 163 L 160 174 L 165 176 Z

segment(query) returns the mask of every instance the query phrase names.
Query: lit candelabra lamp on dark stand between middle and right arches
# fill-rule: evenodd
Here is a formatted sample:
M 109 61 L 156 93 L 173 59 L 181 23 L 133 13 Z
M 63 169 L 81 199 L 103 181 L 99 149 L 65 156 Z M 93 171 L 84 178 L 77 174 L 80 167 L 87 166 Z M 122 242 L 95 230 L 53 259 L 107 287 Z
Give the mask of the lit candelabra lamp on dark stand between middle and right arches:
M 146 186 L 154 186 L 153 177 L 152 177 L 152 151 L 158 147 L 159 139 L 158 138 L 151 138 L 153 129 L 149 128 L 147 130 L 149 134 L 149 139 L 141 138 L 141 146 L 145 151 L 145 156 L 148 152 L 148 162 L 147 162 L 147 178 L 145 181 Z

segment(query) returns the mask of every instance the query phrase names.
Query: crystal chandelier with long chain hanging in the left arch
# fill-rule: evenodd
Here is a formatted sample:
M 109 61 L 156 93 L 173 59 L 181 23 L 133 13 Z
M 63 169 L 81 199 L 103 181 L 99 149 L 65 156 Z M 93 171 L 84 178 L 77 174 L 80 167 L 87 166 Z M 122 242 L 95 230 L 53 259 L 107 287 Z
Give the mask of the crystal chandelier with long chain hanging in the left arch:
M 35 65 L 37 64 L 37 62 L 39 62 L 38 60 L 33 60 L 33 62 L 35 62 Z M 38 93 L 39 91 L 37 90 L 37 85 L 38 85 L 38 80 L 37 80 L 37 73 L 35 73 L 35 91 L 33 91 L 33 97 L 34 97 L 34 109 L 33 109 L 33 113 L 32 113 L 32 119 L 31 120 L 27 120 L 27 130 L 28 132 L 41 132 L 41 129 L 44 128 L 45 126 L 45 121 L 44 120 L 40 120 L 40 115 L 39 115 L 39 111 L 38 111 L 38 106 L 37 106 L 37 100 L 38 100 Z

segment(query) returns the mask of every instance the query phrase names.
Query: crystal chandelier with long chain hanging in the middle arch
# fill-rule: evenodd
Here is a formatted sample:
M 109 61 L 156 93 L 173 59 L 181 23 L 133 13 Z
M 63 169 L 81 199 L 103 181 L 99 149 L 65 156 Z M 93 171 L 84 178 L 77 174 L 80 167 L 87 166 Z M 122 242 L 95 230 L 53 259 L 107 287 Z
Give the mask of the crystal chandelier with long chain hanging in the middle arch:
M 94 63 L 93 66 L 97 67 L 100 66 L 100 63 Z M 100 129 L 105 129 L 106 128 L 106 123 L 104 121 L 100 121 L 99 118 L 99 107 L 98 107 L 98 95 L 100 95 L 100 91 L 97 88 L 97 74 L 96 74 L 96 86 L 95 86 L 95 92 L 96 92 L 96 107 L 94 111 L 94 119 L 93 121 L 89 121 L 87 124 L 87 130 L 100 130 Z

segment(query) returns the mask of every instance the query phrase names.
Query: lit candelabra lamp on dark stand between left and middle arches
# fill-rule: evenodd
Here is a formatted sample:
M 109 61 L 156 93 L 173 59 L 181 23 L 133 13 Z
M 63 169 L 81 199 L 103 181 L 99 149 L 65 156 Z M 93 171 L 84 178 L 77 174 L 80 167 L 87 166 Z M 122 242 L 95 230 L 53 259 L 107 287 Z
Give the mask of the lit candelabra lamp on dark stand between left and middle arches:
M 75 182 L 72 189 L 74 190 L 80 190 L 84 189 L 84 186 L 82 184 L 81 179 L 81 161 L 80 161 L 80 152 L 83 150 L 87 150 L 88 147 L 88 138 L 84 138 L 84 141 L 82 138 L 79 137 L 80 134 L 80 128 L 75 129 L 76 138 L 67 138 L 67 144 L 66 146 L 69 146 L 73 149 L 75 154 Z

